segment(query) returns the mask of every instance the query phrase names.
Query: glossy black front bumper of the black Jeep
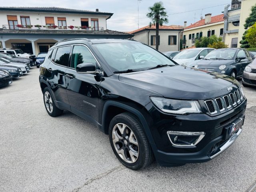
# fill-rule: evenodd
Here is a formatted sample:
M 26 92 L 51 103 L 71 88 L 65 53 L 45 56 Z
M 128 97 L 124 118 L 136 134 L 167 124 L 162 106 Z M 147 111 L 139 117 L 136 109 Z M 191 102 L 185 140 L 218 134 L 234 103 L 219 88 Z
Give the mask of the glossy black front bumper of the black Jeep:
M 231 137 L 227 134 L 230 125 L 238 119 L 245 116 L 246 99 L 240 106 L 220 114 L 210 117 L 206 114 L 190 114 L 188 116 L 173 116 L 158 114 L 156 110 L 151 110 L 151 116 L 158 120 L 150 128 L 154 136 L 155 143 L 152 149 L 156 161 L 161 166 L 176 166 L 186 163 L 207 162 L 218 154 L 226 150 L 239 134 L 242 129 L 237 130 Z M 173 146 L 170 142 L 167 132 L 184 131 L 184 132 L 205 132 L 204 138 L 196 146 Z

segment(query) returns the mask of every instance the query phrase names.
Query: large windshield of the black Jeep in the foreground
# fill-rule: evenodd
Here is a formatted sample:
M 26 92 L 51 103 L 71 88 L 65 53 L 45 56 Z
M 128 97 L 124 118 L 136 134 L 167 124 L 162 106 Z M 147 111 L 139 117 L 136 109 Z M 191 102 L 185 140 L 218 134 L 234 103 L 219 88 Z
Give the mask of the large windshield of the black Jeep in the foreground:
M 153 48 L 138 42 L 102 43 L 93 45 L 113 72 L 147 70 L 157 65 L 175 64 Z

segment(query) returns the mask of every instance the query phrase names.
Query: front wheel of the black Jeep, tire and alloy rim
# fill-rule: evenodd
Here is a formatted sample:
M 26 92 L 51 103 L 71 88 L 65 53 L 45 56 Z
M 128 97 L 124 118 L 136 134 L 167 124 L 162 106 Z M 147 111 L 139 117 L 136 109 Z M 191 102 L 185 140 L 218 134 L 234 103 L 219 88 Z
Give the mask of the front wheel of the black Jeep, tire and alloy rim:
M 152 163 L 152 149 L 135 116 L 127 112 L 118 114 L 111 120 L 108 133 L 114 154 L 126 167 L 139 170 Z

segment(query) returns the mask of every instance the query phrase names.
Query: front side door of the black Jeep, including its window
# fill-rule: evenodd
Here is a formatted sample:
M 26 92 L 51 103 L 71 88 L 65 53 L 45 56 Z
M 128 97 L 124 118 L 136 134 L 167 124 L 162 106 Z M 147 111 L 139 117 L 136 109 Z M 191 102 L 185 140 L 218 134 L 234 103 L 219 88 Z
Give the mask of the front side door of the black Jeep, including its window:
M 96 124 L 99 118 L 100 79 L 94 74 L 76 72 L 76 66 L 82 63 L 93 63 L 100 69 L 98 62 L 85 45 L 74 45 L 70 67 L 66 70 L 66 87 L 71 111 L 92 120 Z

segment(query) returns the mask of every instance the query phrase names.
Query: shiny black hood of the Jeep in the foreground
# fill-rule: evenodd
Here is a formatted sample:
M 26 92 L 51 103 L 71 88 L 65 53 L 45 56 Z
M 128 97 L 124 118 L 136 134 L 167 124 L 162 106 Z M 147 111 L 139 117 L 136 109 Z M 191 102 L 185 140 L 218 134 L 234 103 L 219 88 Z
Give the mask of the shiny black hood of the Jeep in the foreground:
M 166 98 L 200 100 L 229 93 L 239 82 L 229 76 L 185 66 L 162 67 L 120 74 L 119 80 L 161 94 Z

